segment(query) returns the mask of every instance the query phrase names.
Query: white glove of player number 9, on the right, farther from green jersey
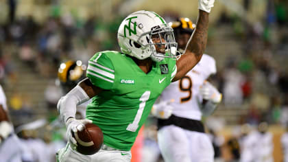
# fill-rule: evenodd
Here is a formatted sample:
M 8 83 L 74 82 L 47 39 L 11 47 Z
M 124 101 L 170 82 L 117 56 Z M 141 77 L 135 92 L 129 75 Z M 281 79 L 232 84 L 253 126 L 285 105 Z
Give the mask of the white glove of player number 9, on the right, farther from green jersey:
M 204 84 L 200 86 L 199 93 L 204 100 L 210 100 L 214 104 L 221 102 L 221 93 L 210 82 L 204 81 Z

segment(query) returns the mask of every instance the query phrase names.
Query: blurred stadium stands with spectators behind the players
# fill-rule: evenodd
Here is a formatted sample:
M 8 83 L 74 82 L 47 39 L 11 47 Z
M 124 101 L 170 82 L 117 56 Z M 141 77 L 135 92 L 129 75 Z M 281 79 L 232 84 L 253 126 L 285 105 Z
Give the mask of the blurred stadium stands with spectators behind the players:
M 152 10 L 167 22 L 179 16 L 195 22 L 198 12 L 196 0 L 0 0 L 0 84 L 16 130 L 31 130 L 28 137 L 47 146 L 63 141 L 64 130 L 55 122 L 62 95 L 58 67 L 67 60 L 86 64 L 96 51 L 119 50 L 118 26 L 136 10 Z M 210 18 L 206 53 L 217 61 L 213 84 L 224 95 L 214 115 L 204 119 L 214 132 L 215 158 L 232 161 L 227 141 L 267 122 L 274 161 L 283 161 L 288 1 L 219 0 Z M 133 161 L 161 161 L 153 117 L 147 120 L 142 138 Z

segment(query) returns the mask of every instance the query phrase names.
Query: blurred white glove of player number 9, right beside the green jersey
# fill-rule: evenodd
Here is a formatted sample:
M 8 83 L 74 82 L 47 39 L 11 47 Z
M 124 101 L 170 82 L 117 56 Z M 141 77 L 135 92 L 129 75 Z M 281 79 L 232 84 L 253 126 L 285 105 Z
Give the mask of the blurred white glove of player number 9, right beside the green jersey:
M 168 119 L 173 111 L 173 106 L 169 105 L 171 102 L 174 102 L 174 100 L 172 99 L 160 102 L 159 104 L 154 104 L 151 111 L 152 115 L 160 119 Z

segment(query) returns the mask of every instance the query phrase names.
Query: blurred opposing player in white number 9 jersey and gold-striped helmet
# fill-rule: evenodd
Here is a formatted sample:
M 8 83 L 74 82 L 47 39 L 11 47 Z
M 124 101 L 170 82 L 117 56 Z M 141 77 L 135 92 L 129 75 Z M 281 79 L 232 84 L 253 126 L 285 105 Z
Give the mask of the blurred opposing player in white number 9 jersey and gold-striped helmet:
M 180 52 L 184 52 L 195 24 L 180 18 L 173 27 Z M 221 101 L 221 94 L 206 79 L 216 73 L 214 58 L 203 54 L 186 76 L 171 83 L 154 105 L 158 119 L 158 145 L 167 162 L 214 161 L 214 150 L 204 133 L 202 115 L 210 115 Z

